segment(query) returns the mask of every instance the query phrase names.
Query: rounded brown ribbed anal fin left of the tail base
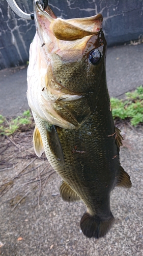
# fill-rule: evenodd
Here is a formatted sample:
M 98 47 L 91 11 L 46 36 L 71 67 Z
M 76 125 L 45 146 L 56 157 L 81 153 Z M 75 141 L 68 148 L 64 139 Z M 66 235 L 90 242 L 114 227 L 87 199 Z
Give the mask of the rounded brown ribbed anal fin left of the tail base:
M 60 195 L 66 202 L 79 201 L 80 197 L 72 190 L 72 188 L 63 180 L 60 186 Z

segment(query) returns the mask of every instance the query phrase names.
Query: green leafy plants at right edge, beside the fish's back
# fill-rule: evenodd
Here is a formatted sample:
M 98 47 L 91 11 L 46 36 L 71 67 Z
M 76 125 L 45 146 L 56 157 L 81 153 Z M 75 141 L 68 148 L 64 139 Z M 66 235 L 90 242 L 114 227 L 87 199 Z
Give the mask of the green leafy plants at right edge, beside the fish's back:
M 131 124 L 136 126 L 143 122 L 143 87 L 138 87 L 134 92 L 126 93 L 126 99 L 111 98 L 113 118 L 130 118 Z

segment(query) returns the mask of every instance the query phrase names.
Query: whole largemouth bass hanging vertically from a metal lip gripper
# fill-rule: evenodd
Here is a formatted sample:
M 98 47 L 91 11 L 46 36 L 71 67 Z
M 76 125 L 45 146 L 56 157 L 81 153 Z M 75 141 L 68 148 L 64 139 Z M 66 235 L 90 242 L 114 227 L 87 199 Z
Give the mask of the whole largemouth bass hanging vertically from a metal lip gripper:
M 45 152 L 63 179 L 61 198 L 87 206 L 80 228 L 98 239 L 115 222 L 111 191 L 132 185 L 120 164 L 123 137 L 112 118 L 103 17 L 62 19 L 35 0 L 34 19 L 27 70 L 34 150 L 38 157 Z

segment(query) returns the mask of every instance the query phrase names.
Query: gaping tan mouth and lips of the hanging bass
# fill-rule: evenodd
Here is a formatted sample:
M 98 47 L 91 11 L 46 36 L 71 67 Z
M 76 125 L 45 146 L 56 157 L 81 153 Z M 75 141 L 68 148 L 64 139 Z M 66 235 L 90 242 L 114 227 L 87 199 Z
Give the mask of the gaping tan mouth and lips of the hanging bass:
M 98 34 L 102 28 L 103 17 L 97 14 L 87 18 L 62 19 L 57 18 L 49 6 L 43 10 L 39 1 L 34 1 L 34 13 L 38 24 L 38 15 L 43 16 L 43 21 L 50 22 L 50 30 L 60 40 L 76 40 L 84 36 Z M 40 25 L 40 24 L 39 24 Z M 38 26 L 39 27 L 39 26 Z M 41 28 L 41 26 L 40 26 Z

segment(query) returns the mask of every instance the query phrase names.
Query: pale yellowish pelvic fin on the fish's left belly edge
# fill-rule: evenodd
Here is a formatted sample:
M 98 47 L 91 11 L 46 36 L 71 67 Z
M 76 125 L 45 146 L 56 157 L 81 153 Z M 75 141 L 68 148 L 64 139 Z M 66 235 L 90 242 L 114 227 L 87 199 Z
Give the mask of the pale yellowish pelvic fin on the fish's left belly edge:
M 44 147 L 43 147 L 41 135 L 37 126 L 35 126 L 34 133 L 33 133 L 33 145 L 34 145 L 35 154 L 38 157 L 41 157 L 42 153 L 44 152 Z

